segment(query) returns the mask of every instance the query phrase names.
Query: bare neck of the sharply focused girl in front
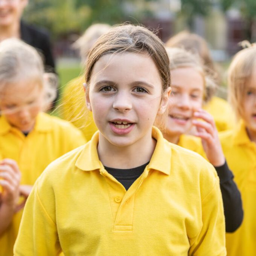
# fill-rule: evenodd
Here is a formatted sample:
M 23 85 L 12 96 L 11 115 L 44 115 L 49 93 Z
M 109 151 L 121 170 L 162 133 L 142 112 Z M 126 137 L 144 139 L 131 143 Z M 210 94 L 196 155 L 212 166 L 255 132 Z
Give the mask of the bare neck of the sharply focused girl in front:
M 145 138 L 146 137 L 146 138 Z M 99 134 L 98 155 L 102 164 L 117 169 L 135 168 L 149 162 L 155 149 L 156 141 L 145 136 L 129 146 L 115 146 Z

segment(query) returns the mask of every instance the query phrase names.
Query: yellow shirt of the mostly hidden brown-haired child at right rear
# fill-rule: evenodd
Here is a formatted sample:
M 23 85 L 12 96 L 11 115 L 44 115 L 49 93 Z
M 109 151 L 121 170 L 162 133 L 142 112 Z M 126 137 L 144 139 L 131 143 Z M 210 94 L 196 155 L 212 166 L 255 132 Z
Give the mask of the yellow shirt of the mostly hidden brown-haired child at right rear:
M 212 99 L 203 107 L 208 113 L 213 116 L 217 130 L 231 130 L 235 126 L 235 114 L 227 101 L 219 97 Z

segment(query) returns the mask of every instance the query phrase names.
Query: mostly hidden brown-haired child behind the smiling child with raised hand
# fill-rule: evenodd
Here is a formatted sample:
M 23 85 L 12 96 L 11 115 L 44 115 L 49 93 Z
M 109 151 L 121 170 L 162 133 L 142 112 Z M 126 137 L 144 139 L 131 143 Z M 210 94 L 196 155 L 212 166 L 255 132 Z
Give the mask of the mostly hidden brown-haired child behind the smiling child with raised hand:
M 167 47 L 179 47 L 200 56 L 206 72 L 214 79 L 215 84 L 221 83 L 221 77 L 210 56 L 207 42 L 197 34 L 182 31 L 171 37 L 166 42 Z M 207 101 L 204 102 L 203 109 L 210 113 L 215 121 L 218 131 L 230 130 L 235 125 L 234 113 L 230 105 L 217 96 L 214 96 L 218 87 L 207 87 Z

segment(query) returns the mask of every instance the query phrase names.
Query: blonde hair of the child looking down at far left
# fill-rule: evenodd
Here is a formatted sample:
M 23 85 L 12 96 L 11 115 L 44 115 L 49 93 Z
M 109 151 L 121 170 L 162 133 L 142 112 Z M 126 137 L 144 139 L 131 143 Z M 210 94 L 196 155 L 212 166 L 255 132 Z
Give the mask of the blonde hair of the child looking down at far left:
M 3 90 L 21 81 L 39 85 L 45 94 L 46 106 L 56 97 L 56 75 L 44 73 L 37 50 L 16 38 L 3 40 L 0 43 L 0 99 Z

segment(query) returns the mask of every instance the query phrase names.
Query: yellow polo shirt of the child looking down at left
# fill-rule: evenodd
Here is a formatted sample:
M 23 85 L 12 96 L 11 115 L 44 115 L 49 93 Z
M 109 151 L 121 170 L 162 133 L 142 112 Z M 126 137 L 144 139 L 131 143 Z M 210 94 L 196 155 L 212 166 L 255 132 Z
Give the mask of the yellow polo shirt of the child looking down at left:
M 0 160 L 14 159 L 21 171 L 21 184 L 33 185 L 49 163 L 81 146 L 85 139 L 77 128 L 58 117 L 39 113 L 34 129 L 24 136 L 0 117 Z M 13 255 L 22 210 L 16 213 L 8 229 L 0 236 L 0 255 Z

